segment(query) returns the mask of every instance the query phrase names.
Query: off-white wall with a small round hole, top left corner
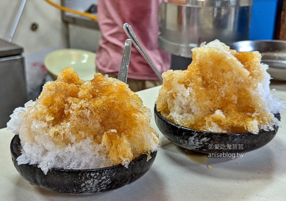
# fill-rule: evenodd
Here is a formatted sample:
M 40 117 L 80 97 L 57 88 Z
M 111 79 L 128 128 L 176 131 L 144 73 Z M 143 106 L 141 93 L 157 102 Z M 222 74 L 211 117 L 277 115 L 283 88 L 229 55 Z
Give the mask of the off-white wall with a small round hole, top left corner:
M 53 2 L 60 4 L 60 0 Z M 9 38 L 20 4 L 21 0 L 1 0 L 0 38 Z M 31 30 L 33 22 L 39 24 L 37 31 Z M 61 20 L 61 11 L 43 0 L 28 0 L 13 42 L 24 47 L 26 53 L 67 46 L 66 27 Z

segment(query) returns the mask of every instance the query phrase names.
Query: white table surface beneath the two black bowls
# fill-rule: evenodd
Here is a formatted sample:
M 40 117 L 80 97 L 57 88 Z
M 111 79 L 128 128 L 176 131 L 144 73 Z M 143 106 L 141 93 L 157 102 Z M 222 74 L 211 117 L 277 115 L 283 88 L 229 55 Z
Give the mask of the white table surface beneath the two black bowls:
M 154 109 L 160 87 L 138 92 Z M 286 100 L 286 83 L 275 83 L 275 94 Z M 0 200 L 286 200 L 286 111 L 275 138 L 239 158 L 209 158 L 198 164 L 158 130 L 161 149 L 150 170 L 122 188 L 92 195 L 67 195 L 29 184 L 15 169 L 9 145 L 14 134 L 0 130 Z M 207 165 L 212 165 L 209 169 Z

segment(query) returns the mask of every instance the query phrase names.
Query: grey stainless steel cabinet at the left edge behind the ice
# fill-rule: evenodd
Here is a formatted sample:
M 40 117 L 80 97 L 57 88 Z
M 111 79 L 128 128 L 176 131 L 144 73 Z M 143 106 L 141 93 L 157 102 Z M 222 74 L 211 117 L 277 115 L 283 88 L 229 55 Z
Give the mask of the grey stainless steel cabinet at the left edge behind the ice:
M 0 39 L 0 128 L 27 102 L 23 48 Z

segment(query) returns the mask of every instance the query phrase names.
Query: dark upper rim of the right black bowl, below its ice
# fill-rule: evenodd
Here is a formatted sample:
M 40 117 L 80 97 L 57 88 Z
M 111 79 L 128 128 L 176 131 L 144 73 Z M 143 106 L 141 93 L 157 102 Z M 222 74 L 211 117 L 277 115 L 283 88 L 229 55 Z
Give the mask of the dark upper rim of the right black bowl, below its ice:
M 164 121 L 166 121 L 168 124 L 172 125 L 172 126 L 175 126 L 177 128 L 182 128 L 184 130 L 188 130 L 188 131 L 191 131 L 191 132 L 202 132 L 202 133 L 206 133 L 206 134 L 212 134 L 212 135 L 226 135 L 226 136 L 239 136 L 239 135 L 258 135 L 259 133 L 261 132 L 264 132 L 265 130 L 259 130 L 259 132 L 257 134 L 254 134 L 254 133 L 251 133 L 251 132 L 240 132 L 240 133 L 224 133 L 224 132 L 208 132 L 208 131 L 202 131 L 202 130 L 194 130 L 194 129 L 191 129 L 191 128 L 187 128 L 185 126 L 181 126 L 179 124 L 176 124 L 176 123 L 173 123 L 171 122 L 169 119 L 165 118 L 161 112 L 158 112 L 157 111 L 157 104 L 155 104 L 154 106 L 154 112 L 156 115 L 160 116 L 160 118 L 162 118 Z M 279 114 L 280 115 L 280 114 Z M 276 117 L 275 117 L 276 118 Z

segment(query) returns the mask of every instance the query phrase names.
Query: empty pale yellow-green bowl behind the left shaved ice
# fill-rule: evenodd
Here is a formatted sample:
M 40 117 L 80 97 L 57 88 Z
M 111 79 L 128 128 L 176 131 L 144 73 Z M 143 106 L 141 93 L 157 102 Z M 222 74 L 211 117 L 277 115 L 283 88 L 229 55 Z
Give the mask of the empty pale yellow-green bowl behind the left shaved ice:
M 56 80 L 59 71 L 72 67 L 83 81 L 94 78 L 96 54 L 80 49 L 59 49 L 49 53 L 44 60 L 51 77 Z

